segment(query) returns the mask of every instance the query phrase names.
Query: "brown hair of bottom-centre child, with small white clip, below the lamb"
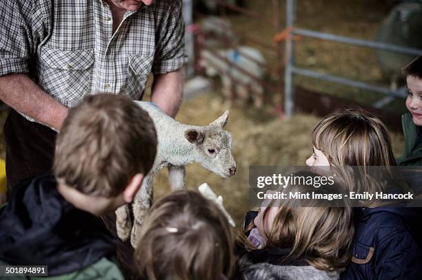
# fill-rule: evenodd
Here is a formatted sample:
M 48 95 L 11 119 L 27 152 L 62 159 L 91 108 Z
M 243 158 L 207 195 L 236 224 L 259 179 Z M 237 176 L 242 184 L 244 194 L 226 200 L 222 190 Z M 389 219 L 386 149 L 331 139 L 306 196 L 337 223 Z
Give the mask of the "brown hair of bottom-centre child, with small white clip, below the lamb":
M 135 251 L 145 279 L 230 279 L 234 235 L 217 205 L 192 190 L 156 202 L 141 228 Z

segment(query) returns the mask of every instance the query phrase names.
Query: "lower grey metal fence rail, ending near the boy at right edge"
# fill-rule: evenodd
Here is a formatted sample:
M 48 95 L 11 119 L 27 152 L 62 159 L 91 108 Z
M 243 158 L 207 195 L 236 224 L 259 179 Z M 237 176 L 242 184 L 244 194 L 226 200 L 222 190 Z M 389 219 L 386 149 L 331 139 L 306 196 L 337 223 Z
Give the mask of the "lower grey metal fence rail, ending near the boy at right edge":
M 299 68 L 295 66 L 292 66 L 292 73 L 299 74 L 302 76 L 308 76 L 312 78 L 319 78 L 321 80 L 328 80 L 329 82 L 332 82 L 332 83 L 339 83 L 342 85 L 349 85 L 351 87 L 359 87 L 361 89 L 368 89 L 370 91 L 379 92 L 381 94 L 385 94 L 388 96 L 395 96 L 395 97 L 400 97 L 400 98 L 403 98 L 406 96 L 406 93 L 403 91 L 394 91 L 392 89 L 389 89 L 388 87 L 379 87 L 376 85 L 370 85 L 368 83 L 359 82 L 357 80 L 351 80 L 351 79 L 343 78 L 339 76 L 332 76 L 330 74 L 323 74 L 323 73 L 319 73 L 319 72 L 315 72 L 309 69 L 303 69 L 303 68 Z

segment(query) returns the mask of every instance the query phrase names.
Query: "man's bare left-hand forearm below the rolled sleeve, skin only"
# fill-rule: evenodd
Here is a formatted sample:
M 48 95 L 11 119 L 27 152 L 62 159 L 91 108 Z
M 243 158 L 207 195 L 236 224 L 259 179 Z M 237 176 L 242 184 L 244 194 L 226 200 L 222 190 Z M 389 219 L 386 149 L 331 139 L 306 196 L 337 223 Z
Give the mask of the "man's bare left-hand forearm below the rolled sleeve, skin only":
M 35 84 L 26 74 L 0 76 L 0 99 L 37 122 L 60 130 L 68 108 Z

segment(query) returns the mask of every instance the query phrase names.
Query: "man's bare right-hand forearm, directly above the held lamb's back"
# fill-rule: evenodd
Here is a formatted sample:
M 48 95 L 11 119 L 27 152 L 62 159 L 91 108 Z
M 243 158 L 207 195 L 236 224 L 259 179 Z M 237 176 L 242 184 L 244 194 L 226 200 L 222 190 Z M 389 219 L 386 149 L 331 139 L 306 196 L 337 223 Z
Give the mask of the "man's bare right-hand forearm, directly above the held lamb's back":
M 169 116 L 176 116 L 183 98 L 183 68 L 167 74 L 156 74 L 151 100 Z

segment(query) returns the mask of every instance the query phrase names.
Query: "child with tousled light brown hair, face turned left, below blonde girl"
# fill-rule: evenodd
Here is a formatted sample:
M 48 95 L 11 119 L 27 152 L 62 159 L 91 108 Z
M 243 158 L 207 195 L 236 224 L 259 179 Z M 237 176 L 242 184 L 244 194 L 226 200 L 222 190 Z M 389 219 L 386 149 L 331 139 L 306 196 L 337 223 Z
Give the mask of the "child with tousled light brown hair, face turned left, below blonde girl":
M 318 177 L 308 172 L 294 176 Z M 281 191 L 289 195 L 323 190 L 303 183 L 290 184 Z M 316 200 L 263 202 L 257 215 L 248 213 L 245 225 L 238 236 L 239 253 L 243 255 L 239 279 L 335 280 L 350 259 L 351 207 Z

